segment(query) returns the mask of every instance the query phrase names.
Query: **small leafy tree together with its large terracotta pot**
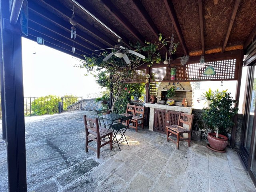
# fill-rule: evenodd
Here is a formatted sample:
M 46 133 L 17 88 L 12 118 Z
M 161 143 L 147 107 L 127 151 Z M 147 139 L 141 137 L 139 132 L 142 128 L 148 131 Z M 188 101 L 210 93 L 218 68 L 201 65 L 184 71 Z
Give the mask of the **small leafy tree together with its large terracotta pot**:
M 225 152 L 228 138 L 224 134 L 234 124 L 231 120 L 232 116 L 238 113 L 238 108 L 234 107 L 234 104 L 236 100 L 230 96 L 230 93 L 224 92 L 221 97 L 214 97 L 209 107 L 203 108 L 202 119 L 213 131 L 208 133 L 207 139 L 210 148 L 215 151 Z

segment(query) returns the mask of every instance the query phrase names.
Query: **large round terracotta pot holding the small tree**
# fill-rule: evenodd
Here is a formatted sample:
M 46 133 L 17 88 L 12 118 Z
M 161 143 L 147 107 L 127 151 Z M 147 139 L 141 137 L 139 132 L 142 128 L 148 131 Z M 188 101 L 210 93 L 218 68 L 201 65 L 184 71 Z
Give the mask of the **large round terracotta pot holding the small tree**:
M 215 136 L 216 133 L 208 133 L 207 139 L 209 141 L 210 147 L 219 151 L 223 151 L 228 144 L 228 138 L 221 134 L 219 134 L 219 137 L 222 137 L 224 139 L 216 138 Z

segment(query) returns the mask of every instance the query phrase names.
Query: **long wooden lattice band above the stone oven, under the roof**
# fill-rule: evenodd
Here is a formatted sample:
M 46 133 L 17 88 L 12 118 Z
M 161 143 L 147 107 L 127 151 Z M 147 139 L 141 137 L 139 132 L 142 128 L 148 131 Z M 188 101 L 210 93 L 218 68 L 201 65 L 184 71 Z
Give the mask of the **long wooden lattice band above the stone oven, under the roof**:
M 204 75 L 206 67 L 212 66 L 215 75 Z M 212 62 L 190 63 L 186 65 L 164 66 L 151 68 L 151 82 L 171 81 L 170 69 L 176 68 L 175 81 L 202 81 L 202 80 L 237 80 L 238 67 L 236 59 L 219 60 Z

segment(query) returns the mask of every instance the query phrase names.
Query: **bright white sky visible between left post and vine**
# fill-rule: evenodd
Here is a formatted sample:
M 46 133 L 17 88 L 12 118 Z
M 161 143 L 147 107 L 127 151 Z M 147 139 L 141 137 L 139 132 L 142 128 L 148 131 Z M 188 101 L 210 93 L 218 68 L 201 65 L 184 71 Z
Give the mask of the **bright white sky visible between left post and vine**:
M 33 54 L 35 53 L 35 54 Z M 22 38 L 24 97 L 75 95 L 95 98 L 104 91 L 86 69 L 74 67 L 79 59 Z

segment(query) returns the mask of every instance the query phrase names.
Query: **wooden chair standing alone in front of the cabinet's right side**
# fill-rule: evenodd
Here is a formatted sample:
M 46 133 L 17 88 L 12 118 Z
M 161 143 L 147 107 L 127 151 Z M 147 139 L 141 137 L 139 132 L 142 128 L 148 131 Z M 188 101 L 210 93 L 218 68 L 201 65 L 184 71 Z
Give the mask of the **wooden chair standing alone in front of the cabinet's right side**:
M 169 142 L 169 140 L 172 140 L 174 143 L 177 144 L 176 148 L 179 149 L 180 141 L 186 140 L 188 142 L 188 147 L 190 147 L 193 119 L 194 119 L 194 114 L 188 115 L 183 112 L 180 112 L 180 116 L 178 120 L 179 124 L 166 126 L 167 142 Z M 183 127 L 184 124 L 188 125 L 188 129 Z M 184 133 L 188 133 L 188 138 L 183 137 L 182 134 Z M 172 134 L 177 136 L 177 141 L 169 137 Z

